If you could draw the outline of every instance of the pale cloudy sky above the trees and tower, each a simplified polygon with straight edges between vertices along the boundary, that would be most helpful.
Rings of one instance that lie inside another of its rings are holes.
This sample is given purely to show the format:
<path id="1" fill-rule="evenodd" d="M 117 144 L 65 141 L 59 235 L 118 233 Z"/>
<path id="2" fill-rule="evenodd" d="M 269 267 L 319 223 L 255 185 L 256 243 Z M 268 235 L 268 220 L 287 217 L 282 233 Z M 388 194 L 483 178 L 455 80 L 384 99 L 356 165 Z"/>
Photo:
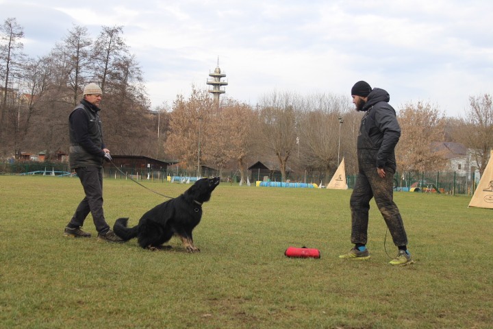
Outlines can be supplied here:
<path id="1" fill-rule="evenodd" d="M 396 110 L 422 101 L 447 117 L 493 93 L 492 12 L 491 0 L 0 0 L 31 57 L 75 25 L 93 38 L 123 26 L 153 108 L 208 88 L 219 64 L 226 95 L 253 106 L 273 91 L 350 101 L 365 80 Z"/>

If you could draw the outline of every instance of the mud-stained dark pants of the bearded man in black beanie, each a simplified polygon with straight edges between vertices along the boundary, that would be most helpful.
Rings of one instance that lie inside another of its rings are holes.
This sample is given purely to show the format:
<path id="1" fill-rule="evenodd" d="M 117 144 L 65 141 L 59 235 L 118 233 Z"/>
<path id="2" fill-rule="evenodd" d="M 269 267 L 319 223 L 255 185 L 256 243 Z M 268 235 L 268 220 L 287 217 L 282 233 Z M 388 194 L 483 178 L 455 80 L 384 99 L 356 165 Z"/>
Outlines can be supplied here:
<path id="1" fill-rule="evenodd" d="M 375 163 L 375 162 L 373 162 Z M 407 235 L 399 208 L 393 201 L 394 170 L 385 168 L 385 178 L 380 178 L 377 167 L 361 165 L 351 194 L 351 243 L 364 243 L 368 240 L 368 211 L 370 200 L 375 197 L 394 244 L 407 245 Z"/>

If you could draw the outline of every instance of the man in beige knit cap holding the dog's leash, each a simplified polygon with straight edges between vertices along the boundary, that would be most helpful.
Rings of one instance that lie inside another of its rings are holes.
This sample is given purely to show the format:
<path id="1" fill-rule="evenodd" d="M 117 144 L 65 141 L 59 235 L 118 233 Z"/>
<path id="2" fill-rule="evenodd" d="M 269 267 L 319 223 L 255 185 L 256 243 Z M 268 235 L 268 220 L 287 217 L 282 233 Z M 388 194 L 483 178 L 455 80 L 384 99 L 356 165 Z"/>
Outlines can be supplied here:
<path id="1" fill-rule="evenodd" d="M 64 230 L 64 236 L 90 237 L 81 230 L 89 212 L 98 232 L 98 239 L 109 242 L 123 242 L 105 221 L 103 214 L 103 160 L 111 161 L 110 150 L 103 143 L 103 127 L 98 112 L 102 96 L 101 88 L 91 83 L 84 88 L 83 97 L 68 117 L 70 136 L 70 166 L 75 170 L 86 197 L 82 199 L 71 221 Z"/>

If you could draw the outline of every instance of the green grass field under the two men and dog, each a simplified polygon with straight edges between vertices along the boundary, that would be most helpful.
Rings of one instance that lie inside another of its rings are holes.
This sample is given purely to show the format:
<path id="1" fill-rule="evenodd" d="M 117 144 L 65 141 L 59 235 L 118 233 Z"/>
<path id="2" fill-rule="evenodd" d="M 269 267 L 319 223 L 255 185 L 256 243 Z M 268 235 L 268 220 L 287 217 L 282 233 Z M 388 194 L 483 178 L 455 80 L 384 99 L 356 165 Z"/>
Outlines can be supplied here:
<path id="1" fill-rule="evenodd" d="M 134 225 L 164 199 L 105 180 L 105 217 Z M 165 195 L 189 185 L 144 182 Z M 68 239 L 76 178 L 0 176 L 0 328 L 492 328 L 493 212 L 470 197 L 396 193 L 416 263 L 392 267 L 370 210 L 372 258 L 344 261 L 351 191 L 222 183 L 194 230 L 201 252 Z M 287 258 L 287 247 L 321 258 Z M 385 244 L 394 256 L 389 236 Z"/>

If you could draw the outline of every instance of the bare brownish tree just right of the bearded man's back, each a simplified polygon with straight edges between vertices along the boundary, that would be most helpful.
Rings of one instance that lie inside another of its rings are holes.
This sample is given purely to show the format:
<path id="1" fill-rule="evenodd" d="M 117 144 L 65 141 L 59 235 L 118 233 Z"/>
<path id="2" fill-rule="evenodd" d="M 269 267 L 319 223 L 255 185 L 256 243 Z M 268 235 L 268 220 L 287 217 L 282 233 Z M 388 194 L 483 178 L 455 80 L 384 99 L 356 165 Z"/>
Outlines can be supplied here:
<path id="1" fill-rule="evenodd" d="M 433 150 L 433 142 L 444 141 L 444 115 L 430 103 L 407 103 L 399 109 L 401 138 L 396 160 L 412 171 L 438 171 L 444 168 L 444 153 Z"/>

